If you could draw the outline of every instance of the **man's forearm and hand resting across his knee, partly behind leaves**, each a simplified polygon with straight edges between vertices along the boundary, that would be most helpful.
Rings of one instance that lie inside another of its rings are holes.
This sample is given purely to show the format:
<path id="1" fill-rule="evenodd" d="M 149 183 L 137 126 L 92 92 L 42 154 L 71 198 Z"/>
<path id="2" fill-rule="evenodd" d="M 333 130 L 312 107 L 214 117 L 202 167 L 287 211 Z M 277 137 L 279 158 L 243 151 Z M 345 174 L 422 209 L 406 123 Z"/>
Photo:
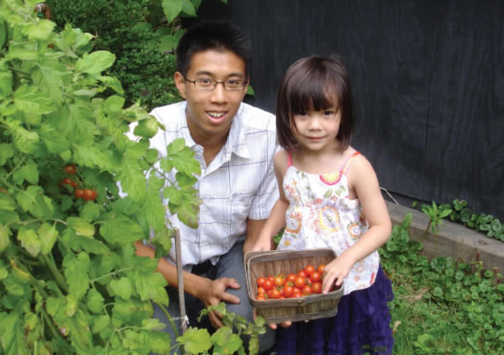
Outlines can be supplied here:
<path id="1" fill-rule="evenodd" d="M 141 241 L 135 242 L 135 247 L 137 248 L 136 254 L 138 256 L 154 258 L 154 249 L 146 246 Z M 156 271 L 164 276 L 170 286 L 178 287 L 177 268 L 173 264 L 164 258 L 160 258 Z M 240 285 L 234 278 L 223 277 L 217 280 L 210 280 L 187 271 L 182 271 L 182 277 L 184 291 L 200 299 L 205 307 L 216 306 L 221 301 L 235 304 L 240 303 L 237 297 L 226 292 L 228 287 L 240 288 Z M 224 325 L 215 312 L 211 312 L 209 318 L 212 325 L 217 329 Z"/>

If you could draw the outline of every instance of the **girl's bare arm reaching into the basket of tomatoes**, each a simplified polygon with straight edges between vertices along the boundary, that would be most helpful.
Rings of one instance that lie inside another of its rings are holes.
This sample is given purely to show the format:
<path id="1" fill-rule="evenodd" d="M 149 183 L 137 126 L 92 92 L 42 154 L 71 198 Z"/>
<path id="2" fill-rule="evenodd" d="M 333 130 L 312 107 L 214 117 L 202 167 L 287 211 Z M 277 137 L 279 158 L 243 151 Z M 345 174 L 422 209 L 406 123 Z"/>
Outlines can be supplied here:
<path id="1" fill-rule="evenodd" d="M 376 173 L 369 161 L 361 155 L 356 157 L 347 176 L 350 193 L 355 192 L 359 199 L 369 229 L 357 243 L 327 264 L 322 285 L 324 293 L 329 292 L 334 284 L 341 285 L 350 268 L 380 248 L 389 239 L 392 231 L 389 211 L 380 191 Z"/>

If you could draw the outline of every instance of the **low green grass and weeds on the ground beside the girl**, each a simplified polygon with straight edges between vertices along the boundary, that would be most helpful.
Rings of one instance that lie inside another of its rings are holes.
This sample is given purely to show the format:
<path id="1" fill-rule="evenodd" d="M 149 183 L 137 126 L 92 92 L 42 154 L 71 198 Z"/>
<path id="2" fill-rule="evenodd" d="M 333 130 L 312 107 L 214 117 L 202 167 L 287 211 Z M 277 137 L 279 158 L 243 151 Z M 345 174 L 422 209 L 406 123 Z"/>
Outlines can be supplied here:
<path id="1" fill-rule="evenodd" d="M 421 244 L 410 241 L 410 224 L 407 214 L 380 249 L 395 293 L 389 303 L 394 353 L 502 353 L 502 275 L 483 270 L 481 262 L 466 264 L 446 257 L 429 261 L 418 255 Z"/>

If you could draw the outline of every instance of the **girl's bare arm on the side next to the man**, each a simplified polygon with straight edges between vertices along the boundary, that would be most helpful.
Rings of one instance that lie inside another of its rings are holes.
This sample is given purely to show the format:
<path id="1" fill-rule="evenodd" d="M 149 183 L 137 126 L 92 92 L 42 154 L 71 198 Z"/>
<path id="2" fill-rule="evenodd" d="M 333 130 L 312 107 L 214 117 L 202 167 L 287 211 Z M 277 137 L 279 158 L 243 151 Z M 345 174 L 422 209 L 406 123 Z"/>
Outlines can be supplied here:
<path id="1" fill-rule="evenodd" d="M 278 233 L 278 231 L 285 226 L 285 212 L 289 207 L 289 201 L 287 201 L 287 199 L 285 198 L 285 194 L 282 188 L 283 177 L 285 175 L 285 171 L 287 170 L 286 151 L 282 149 L 278 153 L 276 153 L 273 163 L 275 167 L 275 175 L 277 177 L 280 197 L 278 198 L 277 202 L 275 202 L 268 220 L 261 229 L 261 233 L 259 234 L 257 241 L 250 246 L 244 246 L 244 254 L 248 252 L 271 250 L 271 240 Z"/>

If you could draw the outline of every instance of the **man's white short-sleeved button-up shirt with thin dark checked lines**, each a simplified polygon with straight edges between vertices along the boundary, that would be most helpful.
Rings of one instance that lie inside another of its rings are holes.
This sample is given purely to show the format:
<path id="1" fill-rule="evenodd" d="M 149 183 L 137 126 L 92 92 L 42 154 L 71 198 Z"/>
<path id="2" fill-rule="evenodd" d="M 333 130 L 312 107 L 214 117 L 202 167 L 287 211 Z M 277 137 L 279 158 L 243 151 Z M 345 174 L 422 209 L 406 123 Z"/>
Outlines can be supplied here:
<path id="1" fill-rule="evenodd" d="M 185 107 L 183 101 L 152 110 L 166 131 L 160 130 L 150 145 L 160 156 L 166 156 L 167 145 L 183 138 L 201 164 L 195 186 L 202 200 L 198 229 L 187 227 L 167 211 L 172 225 L 180 229 L 182 264 L 190 270 L 206 260 L 215 265 L 221 255 L 243 240 L 247 218 L 268 218 L 279 196 L 273 169 L 278 146 L 275 116 L 241 103 L 225 145 L 207 166 L 203 147 L 193 140 L 187 127 Z M 174 171 L 170 179 L 174 181 Z M 174 248 L 167 259 L 174 263 Z"/>

